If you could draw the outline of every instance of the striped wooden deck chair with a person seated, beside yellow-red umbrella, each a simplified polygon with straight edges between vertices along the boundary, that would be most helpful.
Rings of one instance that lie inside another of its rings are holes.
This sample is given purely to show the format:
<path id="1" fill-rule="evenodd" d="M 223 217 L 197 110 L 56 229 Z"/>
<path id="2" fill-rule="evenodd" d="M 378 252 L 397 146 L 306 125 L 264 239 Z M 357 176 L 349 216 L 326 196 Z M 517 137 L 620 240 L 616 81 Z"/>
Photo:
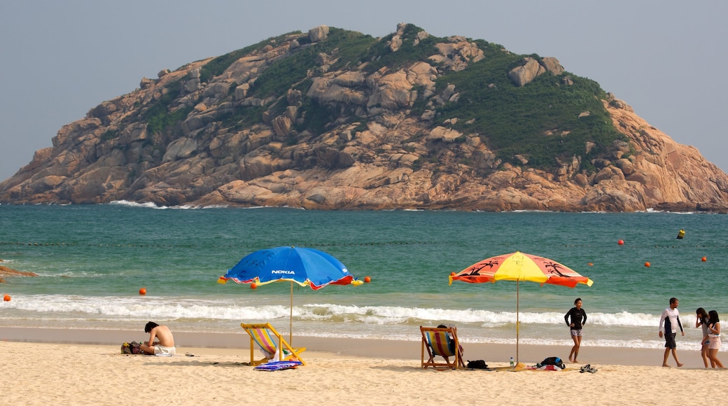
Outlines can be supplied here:
<path id="1" fill-rule="evenodd" d="M 457 327 L 422 327 L 422 368 L 433 367 L 436 370 L 456 370 L 464 368 L 462 362 L 462 347 L 457 338 Z M 429 358 L 424 360 L 424 351 L 427 350 Z M 443 357 L 443 361 L 435 361 L 435 357 Z M 450 357 L 454 357 L 450 362 Z"/>

